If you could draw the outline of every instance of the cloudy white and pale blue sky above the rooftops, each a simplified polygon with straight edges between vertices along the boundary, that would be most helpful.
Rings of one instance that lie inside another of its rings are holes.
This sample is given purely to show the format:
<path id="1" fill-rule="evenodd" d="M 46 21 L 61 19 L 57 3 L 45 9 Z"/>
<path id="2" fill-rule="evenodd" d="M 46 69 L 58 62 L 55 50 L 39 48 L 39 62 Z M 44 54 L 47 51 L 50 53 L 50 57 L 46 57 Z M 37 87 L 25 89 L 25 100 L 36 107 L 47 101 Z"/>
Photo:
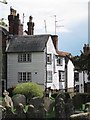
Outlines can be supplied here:
<path id="1" fill-rule="evenodd" d="M 8 4 L 0 3 L 0 18 L 5 18 L 7 22 L 12 7 L 20 14 L 21 22 L 24 13 L 24 30 L 27 30 L 29 16 L 32 16 L 35 23 L 34 34 L 54 35 L 56 31 L 59 50 L 79 55 L 84 44 L 88 43 L 89 0 L 7 0 L 7 2 Z"/>

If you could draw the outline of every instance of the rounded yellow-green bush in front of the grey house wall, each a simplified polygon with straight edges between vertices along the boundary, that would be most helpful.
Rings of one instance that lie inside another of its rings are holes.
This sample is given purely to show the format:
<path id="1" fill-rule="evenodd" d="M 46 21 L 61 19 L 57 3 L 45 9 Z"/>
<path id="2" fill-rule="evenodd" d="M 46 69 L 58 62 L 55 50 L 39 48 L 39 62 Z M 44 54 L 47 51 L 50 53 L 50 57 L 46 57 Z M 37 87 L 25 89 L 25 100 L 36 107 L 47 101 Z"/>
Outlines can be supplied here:
<path id="1" fill-rule="evenodd" d="M 32 97 L 42 97 L 43 89 L 40 85 L 33 82 L 21 83 L 13 90 L 13 94 L 23 94 L 27 99 L 30 99 Z"/>

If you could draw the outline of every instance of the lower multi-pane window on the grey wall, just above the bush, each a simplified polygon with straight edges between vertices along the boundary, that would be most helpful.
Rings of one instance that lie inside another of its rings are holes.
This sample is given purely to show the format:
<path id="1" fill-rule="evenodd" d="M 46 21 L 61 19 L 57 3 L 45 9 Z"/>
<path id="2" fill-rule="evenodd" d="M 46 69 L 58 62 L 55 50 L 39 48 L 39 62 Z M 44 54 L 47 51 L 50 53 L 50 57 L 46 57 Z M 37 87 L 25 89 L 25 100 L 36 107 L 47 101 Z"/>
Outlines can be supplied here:
<path id="1" fill-rule="evenodd" d="M 18 72 L 18 82 L 31 82 L 31 72 Z"/>

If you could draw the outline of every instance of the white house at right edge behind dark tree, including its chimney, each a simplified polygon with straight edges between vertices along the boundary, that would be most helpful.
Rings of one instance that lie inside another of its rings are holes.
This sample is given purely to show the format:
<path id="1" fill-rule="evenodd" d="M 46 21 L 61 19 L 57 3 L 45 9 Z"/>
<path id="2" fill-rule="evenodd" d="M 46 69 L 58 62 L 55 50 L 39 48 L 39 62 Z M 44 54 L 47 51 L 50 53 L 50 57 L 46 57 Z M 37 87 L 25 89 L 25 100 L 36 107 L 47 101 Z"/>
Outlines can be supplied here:
<path id="1" fill-rule="evenodd" d="M 88 55 L 90 53 L 89 44 L 84 44 L 83 53 Z M 88 71 L 81 71 L 80 68 L 75 66 L 74 81 L 77 92 L 90 92 L 90 80 L 88 79 Z"/>

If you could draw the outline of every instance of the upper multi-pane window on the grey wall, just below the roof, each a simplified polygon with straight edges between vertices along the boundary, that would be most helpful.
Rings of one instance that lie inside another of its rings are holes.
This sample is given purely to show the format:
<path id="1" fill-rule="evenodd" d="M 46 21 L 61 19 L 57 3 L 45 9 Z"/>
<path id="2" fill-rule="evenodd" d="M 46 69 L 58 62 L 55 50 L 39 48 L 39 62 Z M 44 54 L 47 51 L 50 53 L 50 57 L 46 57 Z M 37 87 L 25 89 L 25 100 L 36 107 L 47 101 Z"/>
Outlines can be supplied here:
<path id="1" fill-rule="evenodd" d="M 31 62 L 31 53 L 18 54 L 18 62 Z"/>

